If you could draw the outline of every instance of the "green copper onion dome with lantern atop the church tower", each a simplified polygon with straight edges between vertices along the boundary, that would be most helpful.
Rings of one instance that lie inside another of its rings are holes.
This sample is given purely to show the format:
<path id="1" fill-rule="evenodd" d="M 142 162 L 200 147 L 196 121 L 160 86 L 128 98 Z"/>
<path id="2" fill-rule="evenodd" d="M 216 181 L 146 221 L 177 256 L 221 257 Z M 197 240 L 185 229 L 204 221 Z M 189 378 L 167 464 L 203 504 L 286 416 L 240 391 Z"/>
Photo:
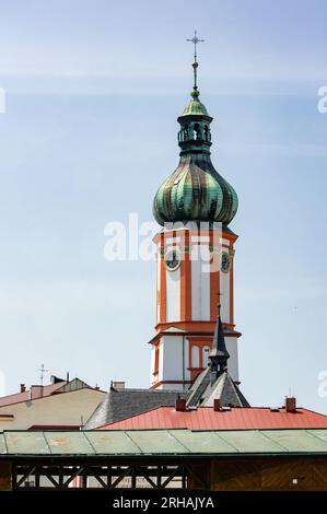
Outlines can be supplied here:
<path id="1" fill-rule="evenodd" d="M 199 101 L 196 59 L 192 68 L 195 84 L 191 100 L 177 119 L 180 125 L 180 160 L 154 197 L 153 215 L 161 225 L 189 221 L 227 225 L 237 211 L 237 195 L 211 162 L 210 124 L 213 118 Z"/>

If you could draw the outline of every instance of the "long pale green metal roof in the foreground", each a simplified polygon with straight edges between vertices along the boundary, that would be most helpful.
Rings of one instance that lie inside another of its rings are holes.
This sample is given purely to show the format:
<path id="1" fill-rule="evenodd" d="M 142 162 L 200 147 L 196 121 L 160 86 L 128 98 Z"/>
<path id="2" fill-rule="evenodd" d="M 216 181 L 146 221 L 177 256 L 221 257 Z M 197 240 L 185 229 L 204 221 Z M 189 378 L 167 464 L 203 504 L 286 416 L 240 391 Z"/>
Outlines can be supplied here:
<path id="1" fill-rule="evenodd" d="M 0 434 L 0 458 L 253 454 L 327 456 L 327 430 L 5 431 Z"/>

